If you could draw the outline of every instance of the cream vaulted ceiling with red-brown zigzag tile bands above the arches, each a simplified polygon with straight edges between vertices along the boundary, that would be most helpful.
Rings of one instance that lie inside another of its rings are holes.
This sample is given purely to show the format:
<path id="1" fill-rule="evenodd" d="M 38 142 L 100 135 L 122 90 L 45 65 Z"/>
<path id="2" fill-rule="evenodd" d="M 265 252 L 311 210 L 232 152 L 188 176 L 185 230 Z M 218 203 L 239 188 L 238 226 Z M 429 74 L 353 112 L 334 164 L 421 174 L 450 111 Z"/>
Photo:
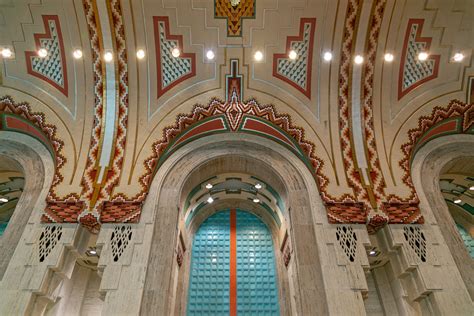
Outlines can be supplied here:
<path id="1" fill-rule="evenodd" d="M 236 3 L 0 0 L 0 112 L 17 116 L 0 127 L 26 128 L 56 159 L 44 220 L 137 220 L 185 120 L 234 115 L 235 92 L 255 102 L 232 111 L 311 147 L 332 221 L 422 221 L 411 155 L 474 133 L 472 1 Z"/>

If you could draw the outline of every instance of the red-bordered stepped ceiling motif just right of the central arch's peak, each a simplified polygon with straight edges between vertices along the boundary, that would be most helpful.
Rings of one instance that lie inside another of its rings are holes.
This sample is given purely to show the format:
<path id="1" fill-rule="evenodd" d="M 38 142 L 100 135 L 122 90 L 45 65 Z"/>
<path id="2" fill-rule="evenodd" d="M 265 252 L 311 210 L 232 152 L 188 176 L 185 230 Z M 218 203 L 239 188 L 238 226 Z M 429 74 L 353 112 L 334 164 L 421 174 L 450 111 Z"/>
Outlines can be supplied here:
<path id="1" fill-rule="evenodd" d="M 286 53 L 273 55 L 273 76 L 279 78 L 311 98 L 311 69 L 313 62 L 315 18 L 300 20 L 298 36 L 289 36 L 286 40 Z M 296 60 L 288 58 L 290 50 L 294 50 Z"/>

